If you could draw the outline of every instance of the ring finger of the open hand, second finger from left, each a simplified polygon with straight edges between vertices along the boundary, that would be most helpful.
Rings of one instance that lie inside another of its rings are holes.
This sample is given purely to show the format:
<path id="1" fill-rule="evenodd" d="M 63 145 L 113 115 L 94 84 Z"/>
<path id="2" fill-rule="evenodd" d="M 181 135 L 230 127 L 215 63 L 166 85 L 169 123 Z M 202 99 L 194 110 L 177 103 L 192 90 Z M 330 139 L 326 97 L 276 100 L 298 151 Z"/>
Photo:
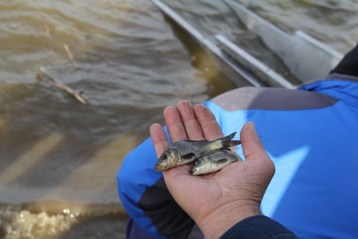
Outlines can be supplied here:
<path id="1" fill-rule="evenodd" d="M 179 112 L 174 107 L 164 109 L 164 119 L 167 124 L 168 132 L 172 143 L 181 139 L 186 139 L 184 125 L 182 124 Z"/>

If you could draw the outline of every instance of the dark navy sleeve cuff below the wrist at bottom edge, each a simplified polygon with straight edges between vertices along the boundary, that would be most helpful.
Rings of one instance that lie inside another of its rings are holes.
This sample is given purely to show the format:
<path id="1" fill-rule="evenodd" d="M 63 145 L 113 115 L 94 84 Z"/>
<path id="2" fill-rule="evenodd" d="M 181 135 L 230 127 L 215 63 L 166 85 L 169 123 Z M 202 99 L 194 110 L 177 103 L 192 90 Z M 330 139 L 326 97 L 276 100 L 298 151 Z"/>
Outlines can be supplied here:
<path id="1" fill-rule="evenodd" d="M 276 221 L 260 215 L 240 221 L 220 239 L 298 239 L 298 237 Z"/>

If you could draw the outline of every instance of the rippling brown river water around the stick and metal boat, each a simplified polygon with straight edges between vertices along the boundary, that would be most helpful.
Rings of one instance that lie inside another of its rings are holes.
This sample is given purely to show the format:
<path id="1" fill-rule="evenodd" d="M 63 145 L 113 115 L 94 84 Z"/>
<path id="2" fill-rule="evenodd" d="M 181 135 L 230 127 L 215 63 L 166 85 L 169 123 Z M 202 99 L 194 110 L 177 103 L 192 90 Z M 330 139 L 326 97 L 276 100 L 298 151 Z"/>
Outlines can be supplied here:
<path id="1" fill-rule="evenodd" d="M 239 1 L 342 53 L 358 39 L 357 0 Z M 223 2 L 166 2 L 289 77 Z M 0 22 L 0 238 L 123 239 L 123 157 L 163 124 L 166 106 L 237 86 L 149 0 L 0 0 Z M 38 80 L 39 67 L 88 104 Z"/>

